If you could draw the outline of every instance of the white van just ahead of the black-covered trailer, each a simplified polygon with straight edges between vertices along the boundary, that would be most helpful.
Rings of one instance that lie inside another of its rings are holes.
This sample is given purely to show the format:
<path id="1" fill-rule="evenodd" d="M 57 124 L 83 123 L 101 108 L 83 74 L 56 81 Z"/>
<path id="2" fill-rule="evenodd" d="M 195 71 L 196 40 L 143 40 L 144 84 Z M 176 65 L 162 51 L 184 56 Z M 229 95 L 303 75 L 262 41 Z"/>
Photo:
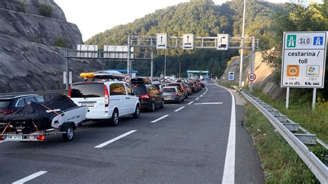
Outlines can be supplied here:
<path id="1" fill-rule="evenodd" d="M 140 116 L 139 100 L 129 84 L 123 81 L 74 83 L 69 97 L 78 106 L 89 107 L 88 120 L 109 120 L 116 126 L 121 116 Z"/>

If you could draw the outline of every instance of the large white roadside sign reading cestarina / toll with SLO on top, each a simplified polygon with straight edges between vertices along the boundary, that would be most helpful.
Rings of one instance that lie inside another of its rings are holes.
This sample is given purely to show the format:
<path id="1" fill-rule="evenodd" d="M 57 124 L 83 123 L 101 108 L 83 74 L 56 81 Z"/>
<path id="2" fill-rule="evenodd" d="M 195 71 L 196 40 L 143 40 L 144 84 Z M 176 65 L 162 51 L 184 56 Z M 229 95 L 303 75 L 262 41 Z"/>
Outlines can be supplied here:
<path id="1" fill-rule="evenodd" d="M 282 87 L 323 88 L 327 32 L 285 32 Z"/>

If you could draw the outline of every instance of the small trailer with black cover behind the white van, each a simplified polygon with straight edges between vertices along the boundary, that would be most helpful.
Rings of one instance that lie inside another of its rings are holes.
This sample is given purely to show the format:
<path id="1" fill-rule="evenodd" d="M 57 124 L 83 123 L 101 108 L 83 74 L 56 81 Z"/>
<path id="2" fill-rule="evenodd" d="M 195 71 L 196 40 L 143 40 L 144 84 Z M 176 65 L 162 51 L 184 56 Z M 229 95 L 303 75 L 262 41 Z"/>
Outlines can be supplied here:
<path id="1" fill-rule="evenodd" d="M 88 111 L 88 107 L 78 107 L 64 95 L 55 95 L 42 103 L 29 102 L 6 116 L 8 123 L 0 134 L 0 143 L 44 141 L 46 136 L 53 134 L 62 134 L 65 141 L 71 141 L 76 127 L 86 120 Z"/>

